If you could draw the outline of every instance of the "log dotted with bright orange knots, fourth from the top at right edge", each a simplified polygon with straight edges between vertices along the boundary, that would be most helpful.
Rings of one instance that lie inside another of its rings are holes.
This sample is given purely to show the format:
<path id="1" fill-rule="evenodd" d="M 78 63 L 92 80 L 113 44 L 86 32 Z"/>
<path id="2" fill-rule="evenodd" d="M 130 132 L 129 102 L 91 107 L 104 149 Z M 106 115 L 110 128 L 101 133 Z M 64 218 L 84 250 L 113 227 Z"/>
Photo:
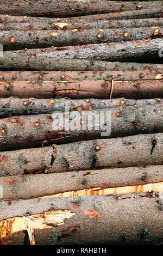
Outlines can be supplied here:
<path id="1" fill-rule="evenodd" d="M 162 28 L 89 29 L 71 31 L 3 31 L 0 43 L 4 50 L 42 48 L 51 46 L 101 44 L 163 37 Z"/>

